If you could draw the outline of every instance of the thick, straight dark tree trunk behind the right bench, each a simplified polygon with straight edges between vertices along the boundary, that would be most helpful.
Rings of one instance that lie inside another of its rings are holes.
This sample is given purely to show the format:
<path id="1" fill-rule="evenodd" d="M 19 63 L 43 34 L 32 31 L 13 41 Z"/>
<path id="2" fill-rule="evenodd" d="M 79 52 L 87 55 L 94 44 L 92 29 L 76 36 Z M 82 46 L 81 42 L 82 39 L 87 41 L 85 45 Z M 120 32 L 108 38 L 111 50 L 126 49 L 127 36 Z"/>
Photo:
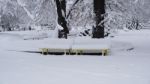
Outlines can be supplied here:
<path id="1" fill-rule="evenodd" d="M 105 0 L 94 0 L 96 27 L 93 28 L 93 38 L 104 38 Z"/>

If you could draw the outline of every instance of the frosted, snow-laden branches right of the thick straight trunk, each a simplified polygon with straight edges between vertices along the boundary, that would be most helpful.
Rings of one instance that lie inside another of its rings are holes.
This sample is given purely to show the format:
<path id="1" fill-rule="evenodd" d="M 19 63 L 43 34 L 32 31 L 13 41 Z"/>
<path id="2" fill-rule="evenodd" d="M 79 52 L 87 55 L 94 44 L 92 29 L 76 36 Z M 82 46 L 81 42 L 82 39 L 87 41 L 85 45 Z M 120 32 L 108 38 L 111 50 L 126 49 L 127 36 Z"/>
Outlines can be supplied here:
<path id="1" fill-rule="evenodd" d="M 105 31 L 140 29 L 147 17 L 145 2 L 148 0 L 106 0 Z M 147 17 L 148 18 L 148 17 Z"/>

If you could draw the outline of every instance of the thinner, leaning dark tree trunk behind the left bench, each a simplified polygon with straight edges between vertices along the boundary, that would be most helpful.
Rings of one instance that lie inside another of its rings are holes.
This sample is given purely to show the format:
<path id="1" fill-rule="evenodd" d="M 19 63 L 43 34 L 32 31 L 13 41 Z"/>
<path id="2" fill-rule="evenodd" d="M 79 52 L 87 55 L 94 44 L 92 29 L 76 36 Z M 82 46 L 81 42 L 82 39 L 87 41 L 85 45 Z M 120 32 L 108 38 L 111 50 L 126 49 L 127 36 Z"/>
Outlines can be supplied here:
<path id="1" fill-rule="evenodd" d="M 62 30 L 63 36 L 67 38 L 67 34 L 69 33 L 69 29 L 66 21 L 66 0 L 55 0 L 57 6 L 57 14 L 58 14 L 58 24 L 61 25 L 64 29 Z M 63 15 L 65 14 L 65 15 Z"/>

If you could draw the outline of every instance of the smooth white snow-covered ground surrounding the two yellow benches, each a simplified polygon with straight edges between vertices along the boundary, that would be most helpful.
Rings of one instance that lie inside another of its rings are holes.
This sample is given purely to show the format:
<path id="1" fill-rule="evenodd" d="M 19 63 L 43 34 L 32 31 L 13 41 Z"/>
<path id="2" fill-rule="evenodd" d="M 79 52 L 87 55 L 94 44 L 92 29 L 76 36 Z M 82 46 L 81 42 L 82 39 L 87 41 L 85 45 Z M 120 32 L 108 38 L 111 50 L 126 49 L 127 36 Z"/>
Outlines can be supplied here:
<path id="1" fill-rule="evenodd" d="M 63 39 L 48 38 L 50 35 L 45 33 L 0 33 L 0 84 L 150 84 L 149 32 L 120 31 L 114 38 L 106 38 L 111 48 L 109 56 L 43 56 L 20 52 L 45 46 L 65 47 L 74 39 L 66 43 Z M 38 35 L 43 39 L 24 40 Z M 63 45 L 58 45 L 59 42 Z"/>

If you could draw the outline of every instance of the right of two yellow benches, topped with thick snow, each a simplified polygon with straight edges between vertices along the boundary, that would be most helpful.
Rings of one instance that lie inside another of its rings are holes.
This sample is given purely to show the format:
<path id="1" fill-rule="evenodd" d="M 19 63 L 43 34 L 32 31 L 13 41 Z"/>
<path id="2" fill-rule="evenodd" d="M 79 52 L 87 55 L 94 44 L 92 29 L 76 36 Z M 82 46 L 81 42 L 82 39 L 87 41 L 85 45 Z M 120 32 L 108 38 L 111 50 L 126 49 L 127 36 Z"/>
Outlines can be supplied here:
<path id="1" fill-rule="evenodd" d="M 80 39 L 75 40 L 71 52 L 76 54 L 102 54 L 108 55 L 110 45 L 105 39 Z"/>

